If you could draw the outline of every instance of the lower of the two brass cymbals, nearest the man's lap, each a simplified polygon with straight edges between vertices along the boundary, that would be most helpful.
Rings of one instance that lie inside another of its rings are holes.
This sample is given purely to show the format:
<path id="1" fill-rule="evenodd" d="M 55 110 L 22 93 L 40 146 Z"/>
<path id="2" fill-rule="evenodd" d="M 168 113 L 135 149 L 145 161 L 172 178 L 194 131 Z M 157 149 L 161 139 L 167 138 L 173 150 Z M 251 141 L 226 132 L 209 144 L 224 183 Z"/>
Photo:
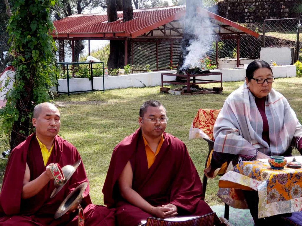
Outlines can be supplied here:
<path id="1" fill-rule="evenodd" d="M 83 199 L 82 195 L 87 185 L 87 182 L 80 184 L 64 199 L 54 215 L 55 219 L 63 216 L 68 211 L 75 210 L 80 205 Z"/>

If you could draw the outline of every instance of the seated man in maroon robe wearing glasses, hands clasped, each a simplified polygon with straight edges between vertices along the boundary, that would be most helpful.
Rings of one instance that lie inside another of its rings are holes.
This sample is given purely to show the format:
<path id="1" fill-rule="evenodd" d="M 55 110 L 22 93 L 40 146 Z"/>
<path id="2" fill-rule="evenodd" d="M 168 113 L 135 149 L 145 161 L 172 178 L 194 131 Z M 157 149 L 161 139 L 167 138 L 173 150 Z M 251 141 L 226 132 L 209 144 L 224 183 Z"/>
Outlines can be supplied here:
<path id="1" fill-rule="evenodd" d="M 119 226 L 149 216 L 201 216 L 213 212 L 202 200 L 202 184 L 185 144 L 165 133 L 164 106 L 140 107 L 140 128 L 114 149 L 104 183 L 104 203 L 116 208 Z M 215 225 L 224 225 L 215 216 Z"/>

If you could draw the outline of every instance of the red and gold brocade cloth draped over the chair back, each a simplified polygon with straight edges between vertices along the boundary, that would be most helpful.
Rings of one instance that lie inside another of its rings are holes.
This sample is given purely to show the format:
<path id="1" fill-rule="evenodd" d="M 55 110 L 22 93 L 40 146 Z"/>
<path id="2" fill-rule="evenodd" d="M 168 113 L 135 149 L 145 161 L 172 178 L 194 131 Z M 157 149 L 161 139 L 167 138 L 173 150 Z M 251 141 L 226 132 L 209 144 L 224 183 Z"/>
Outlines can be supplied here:
<path id="1" fill-rule="evenodd" d="M 189 131 L 189 139 L 208 138 L 213 140 L 213 127 L 220 110 L 199 109 Z"/>

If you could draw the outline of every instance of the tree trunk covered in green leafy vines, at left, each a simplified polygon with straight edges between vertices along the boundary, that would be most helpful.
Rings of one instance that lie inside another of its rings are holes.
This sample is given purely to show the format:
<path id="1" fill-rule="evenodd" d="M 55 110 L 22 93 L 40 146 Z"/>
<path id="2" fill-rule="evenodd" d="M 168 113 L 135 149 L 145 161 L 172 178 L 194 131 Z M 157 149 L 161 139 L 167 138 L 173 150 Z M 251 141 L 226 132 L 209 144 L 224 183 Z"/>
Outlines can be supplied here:
<path id="1" fill-rule="evenodd" d="M 50 8 L 56 0 L 15 0 L 7 31 L 10 54 L 15 68 L 12 89 L 7 90 L 7 103 L 0 110 L 2 137 L 13 149 L 33 132 L 31 124 L 36 104 L 50 101 L 51 87 L 56 84 L 55 45 Z M 2 90 L 7 89 L 5 86 Z"/>

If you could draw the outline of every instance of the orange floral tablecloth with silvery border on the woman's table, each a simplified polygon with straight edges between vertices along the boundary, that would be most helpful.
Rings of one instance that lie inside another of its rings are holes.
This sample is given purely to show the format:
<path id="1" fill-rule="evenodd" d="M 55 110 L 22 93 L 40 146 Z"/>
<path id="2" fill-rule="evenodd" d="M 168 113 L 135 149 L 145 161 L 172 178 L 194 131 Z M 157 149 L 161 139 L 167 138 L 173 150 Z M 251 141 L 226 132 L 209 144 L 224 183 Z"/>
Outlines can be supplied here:
<path id="1" fill-rule="evenodd" d="M 271 169 L 267 162 L 246 161 L 219 180 L 218 197 L 233 208 L 247 209 L 242 189 L 257 190 L 258 217 L 302 210 L 302 169 Z"/>

